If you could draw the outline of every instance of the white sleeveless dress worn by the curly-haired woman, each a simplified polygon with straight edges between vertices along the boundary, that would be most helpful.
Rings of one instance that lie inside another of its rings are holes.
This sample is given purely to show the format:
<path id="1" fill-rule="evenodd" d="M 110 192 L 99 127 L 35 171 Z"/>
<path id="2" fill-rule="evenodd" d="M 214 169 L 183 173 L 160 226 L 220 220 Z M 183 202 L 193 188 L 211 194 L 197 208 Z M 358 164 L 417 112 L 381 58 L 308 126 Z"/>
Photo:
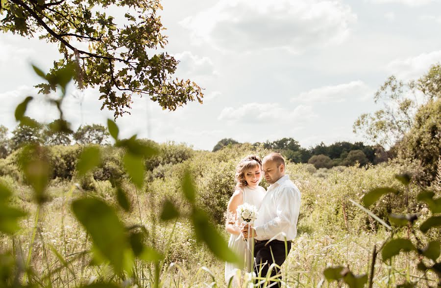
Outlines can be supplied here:
<path id="1" fill-rule="evenodd" d="M 250 188 L 245 186 L 241 188 L 241 192 L 244 196 L 244 203 L 254 205 L 257 210 L 259 210 L 260 205 L 262 204 L 262 199 L 265 196 L 266 190 L 262 186 L 257 186 L 256 188 Z M 228 241 L 228 247 L 235 252 L 239 259 L 244 260 L 245 267 L 239 267 L 234 263 L 225 262 L 225 282 L 228 284 L 231 277 L 234 277 L 237 274 L 238 269 L 244 270 L 244 272 L 252 272 L 253 269 L 251 267 L 251 243 L 247 246 L 247 242 L 243 241 L 243 239 L 236 240 L 238 235 L 230 235 L 230 239 Z M 233 286 L 236 281 L 233 281 Z"/>

